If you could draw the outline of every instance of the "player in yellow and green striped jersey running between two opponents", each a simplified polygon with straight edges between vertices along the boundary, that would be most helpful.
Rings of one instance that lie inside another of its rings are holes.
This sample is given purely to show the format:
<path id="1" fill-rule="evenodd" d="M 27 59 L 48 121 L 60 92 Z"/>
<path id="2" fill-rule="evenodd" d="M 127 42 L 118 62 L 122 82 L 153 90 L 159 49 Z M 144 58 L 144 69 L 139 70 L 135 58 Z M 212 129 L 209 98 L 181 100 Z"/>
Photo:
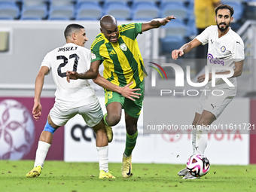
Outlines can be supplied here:
<path id="1" fill-rule="evenodd" d="M 106 131 L 120 121 L 122 108 L 124 109 L 126 146 L 123 153 L 123 178 L 133 175 L 132 151 L 136 145 L 137 121 L 144 97 L 144 65 L 136 37 L 149 29 L 164 26 L 172 19 L 175 17 L 117 26 L 114 17 L 105 15 L 100 20 L 101 33 L 91 45 L 92 59 L 89 71 L 84 74 L 67 72 L 67 78 L 93 78 L 96 84 L 104 88 L 107 108 L 107 114 L 104 115 Z M 99 65 L 102 62 L 104 78 L 99 75 Z"/>

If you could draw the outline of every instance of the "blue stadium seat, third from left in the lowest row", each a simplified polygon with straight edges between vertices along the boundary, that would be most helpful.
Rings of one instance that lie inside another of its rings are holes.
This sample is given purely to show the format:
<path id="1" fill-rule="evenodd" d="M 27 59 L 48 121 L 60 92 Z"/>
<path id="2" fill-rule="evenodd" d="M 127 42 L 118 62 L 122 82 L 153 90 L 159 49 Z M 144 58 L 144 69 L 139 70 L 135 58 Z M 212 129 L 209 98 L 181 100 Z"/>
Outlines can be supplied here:
<path id="1" fill-rule="evenodd" d="M 48 20 L 72 20 L 75 17 L 75 8 L 72 6 L 50 6 Z"/>

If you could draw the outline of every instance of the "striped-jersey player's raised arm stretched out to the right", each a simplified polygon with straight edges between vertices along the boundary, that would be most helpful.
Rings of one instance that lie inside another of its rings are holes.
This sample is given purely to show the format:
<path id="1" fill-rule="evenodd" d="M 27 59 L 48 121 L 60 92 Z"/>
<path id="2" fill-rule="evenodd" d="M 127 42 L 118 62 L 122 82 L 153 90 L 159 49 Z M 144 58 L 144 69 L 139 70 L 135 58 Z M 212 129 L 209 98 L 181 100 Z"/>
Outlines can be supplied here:
<path id="1" fill-rule="evenodd" d="M 167 23 L 170 22 L 170 20 L 173 19 L 175 19 L 175 17 L 173 17 L 172 15 L 165 18 L 154 19 L 147 23 L 142 23 L 142 32 L 148 31 L 149 29 L 158 28 L 160 26 L 165 26 Z"/>

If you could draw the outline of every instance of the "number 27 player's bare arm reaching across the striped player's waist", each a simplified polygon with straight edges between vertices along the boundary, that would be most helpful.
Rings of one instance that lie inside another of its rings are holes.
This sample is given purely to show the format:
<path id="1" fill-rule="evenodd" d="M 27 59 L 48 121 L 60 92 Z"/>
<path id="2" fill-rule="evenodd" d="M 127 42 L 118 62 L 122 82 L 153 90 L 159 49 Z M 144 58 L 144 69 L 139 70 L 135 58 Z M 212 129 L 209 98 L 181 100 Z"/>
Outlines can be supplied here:
<path id="1" fill-rule="evenodd" d="M 130 89 L 130 86 L 133 84 L 133 82 L 131 82 L 130 84 L 127 84 L 124 87 L 119 87 L 115 84 L 112 84 L 111 82 L 109 82 L 108 80 L 103 78 L 102 75 L 99 75 L 99 74 L 98 74 L 97 78 L 93 79 L 93 82 L 107 90 L 111 90 L 113 92 L 120 93 L 122 96 L 124 96 L 128 99 L 131 99 L 133 101 L 135 101 L 135 99 L 133 99 L 133 98 L 139 99 L 139 96 L 142 95 L 140 93 L 135 93 L 135 91 L 141 90 L 141 89 L 139 89 L 139 88 Z"/>

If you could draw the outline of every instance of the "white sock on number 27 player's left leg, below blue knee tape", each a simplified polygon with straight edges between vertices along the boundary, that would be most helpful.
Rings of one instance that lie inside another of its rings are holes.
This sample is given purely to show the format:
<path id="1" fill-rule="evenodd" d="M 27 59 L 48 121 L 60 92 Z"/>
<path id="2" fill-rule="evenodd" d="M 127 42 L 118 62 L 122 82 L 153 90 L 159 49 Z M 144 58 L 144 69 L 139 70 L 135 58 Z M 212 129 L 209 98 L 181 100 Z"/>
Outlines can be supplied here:
<path id="1" fill-rule="evenodd" d="M 47 152 L 50 148 L 50 144 L 47 142 L 38 142 L 38 149 L 35 154 L 35 166 L 41 166 L 41 169 L 44 167 L 44 160 L 46 158 Z"/>

